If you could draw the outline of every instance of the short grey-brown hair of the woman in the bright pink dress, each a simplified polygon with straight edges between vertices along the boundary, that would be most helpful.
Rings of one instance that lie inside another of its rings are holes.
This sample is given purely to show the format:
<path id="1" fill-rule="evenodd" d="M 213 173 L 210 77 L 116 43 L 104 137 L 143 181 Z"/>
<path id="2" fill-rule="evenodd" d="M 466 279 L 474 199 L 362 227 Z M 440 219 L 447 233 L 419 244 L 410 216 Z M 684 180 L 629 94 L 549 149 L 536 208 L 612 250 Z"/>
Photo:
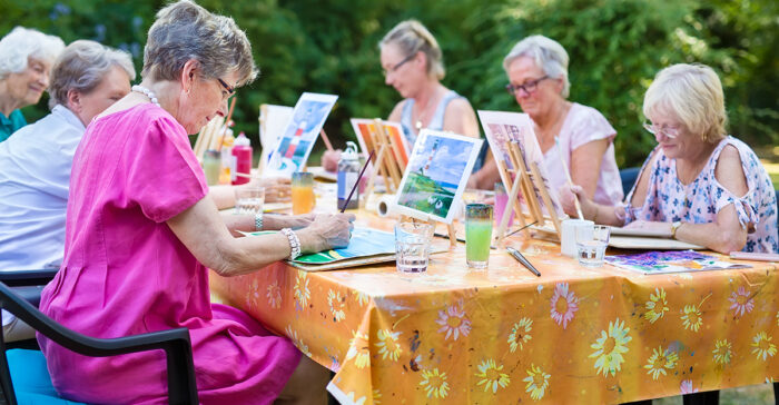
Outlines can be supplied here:
<path id="1" fill-rule="evenodd" d="M 259 72 L 246 33 L 231 18 L 180 0 L 157 12 L 144 49 L 141 76 L 178 80 L 190 59 L 209 79 L 237 72 L 238 86 L 252 82 Z"/>

